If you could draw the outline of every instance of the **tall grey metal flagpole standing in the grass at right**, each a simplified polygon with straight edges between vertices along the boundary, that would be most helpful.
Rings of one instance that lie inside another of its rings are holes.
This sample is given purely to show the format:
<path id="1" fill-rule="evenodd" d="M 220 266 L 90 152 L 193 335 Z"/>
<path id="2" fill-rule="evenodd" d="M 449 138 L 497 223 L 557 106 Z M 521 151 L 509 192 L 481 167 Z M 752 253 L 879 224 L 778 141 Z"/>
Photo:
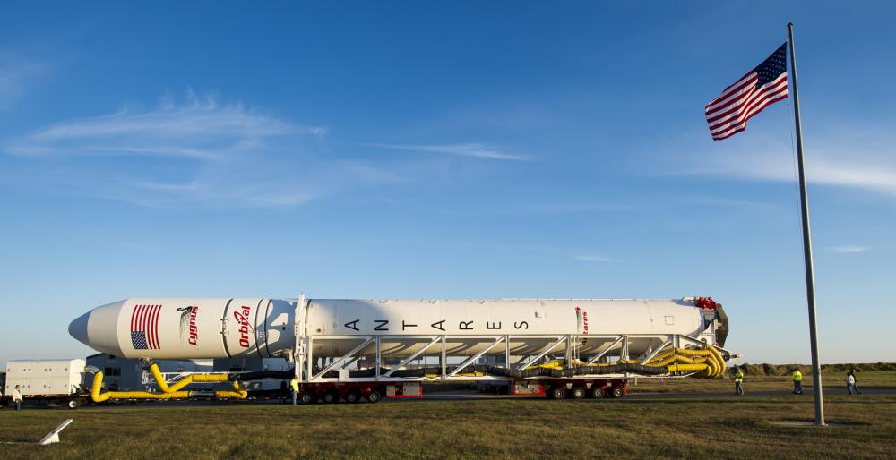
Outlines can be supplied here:
<path id="1" fill-rule="evenodd" d="M 812 236 L 809 234 L 809 200 L 806 197 L 806 165 L 803 160 L 803 132 L 799 124 L 797 57 L 793 53 L 793 22 L 787 25 L 790 45 L 790 72 L 793 79 L 793 115 L 797 122 L 797 162 L 799 165 L 799 207 L 803 213 L 803 259 L 806 261 L 806 302 L 809 304 L 809 341 L 812 347 L 812 378 L 815 398 L 815 424 L 824 424 L 822 367 L 818 362 L 818 328 L 815 327 L 815 277 L 812 264 Z"/>

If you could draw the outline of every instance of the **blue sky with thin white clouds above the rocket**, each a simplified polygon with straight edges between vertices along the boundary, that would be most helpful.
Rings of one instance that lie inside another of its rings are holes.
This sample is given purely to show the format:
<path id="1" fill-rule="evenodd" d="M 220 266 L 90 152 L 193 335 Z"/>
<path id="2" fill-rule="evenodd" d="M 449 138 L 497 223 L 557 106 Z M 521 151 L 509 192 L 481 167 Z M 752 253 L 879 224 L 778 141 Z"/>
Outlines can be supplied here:
<path id="1" fill-rule="evenodd" d="M 773 12 L 773 13 L 771 13 Z M 132 296 L 711 295 L 808 362 L 789 101 L 702 107 L 796 24 L 823 362 L 896 361 L 893 7 L 4 4 L 0 362 Z"/>

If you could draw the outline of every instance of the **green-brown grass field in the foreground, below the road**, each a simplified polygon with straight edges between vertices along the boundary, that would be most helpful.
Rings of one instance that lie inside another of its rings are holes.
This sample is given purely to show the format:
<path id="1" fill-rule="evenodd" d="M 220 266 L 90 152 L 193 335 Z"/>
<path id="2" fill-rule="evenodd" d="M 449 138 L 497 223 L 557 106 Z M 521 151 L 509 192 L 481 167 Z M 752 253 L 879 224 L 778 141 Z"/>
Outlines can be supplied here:
<path id="1" fill-rule="evenodd" d="M 641 396 L 619 400 L 401 401 L 0 411 L 0 458 L 892 458 L 896 396 Z"/>

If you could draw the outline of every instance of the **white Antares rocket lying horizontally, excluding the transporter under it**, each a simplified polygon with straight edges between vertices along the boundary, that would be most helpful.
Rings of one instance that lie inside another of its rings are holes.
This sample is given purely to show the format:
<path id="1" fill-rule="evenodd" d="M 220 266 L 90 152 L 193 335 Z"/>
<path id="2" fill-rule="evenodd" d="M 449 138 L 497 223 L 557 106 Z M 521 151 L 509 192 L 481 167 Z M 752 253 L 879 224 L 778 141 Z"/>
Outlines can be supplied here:
<path id="1" fill-rule="evenodd" d="M 296 345 L 295 300 L 134 298 L 109 303 L 75 319 L 69 331 L 103 353 L 127 358 L 199 359 L 283 356 Z M 463 336 L 545 336 L 512 339 L 514 355 L 536 354 L 547 336 L 684 334 L 707 327 L 694 302 L 668 300 L 328 300 L 307 302 L 301 335 L 452 336 L 448 354 L 476 354 L 487 346 Z M 315 357 L 348 353 L 358 339 L 315 340 Z M 421 344 L 385 339 L 383 356 L 401 358 Z M 607 340 L 583 338 L 582 354 Z M 649 345 L 645 345 L 649 346 Z M 361 354 L 370 354 L 374 345 Z M 559 351 L 559 350 L 556 350 Z M 556 352 L 555 351 L 555 352 Z M 632 350 L 638 353 L 639 350 Z M 490 354 L 504 354 L 504 346 Z"/>

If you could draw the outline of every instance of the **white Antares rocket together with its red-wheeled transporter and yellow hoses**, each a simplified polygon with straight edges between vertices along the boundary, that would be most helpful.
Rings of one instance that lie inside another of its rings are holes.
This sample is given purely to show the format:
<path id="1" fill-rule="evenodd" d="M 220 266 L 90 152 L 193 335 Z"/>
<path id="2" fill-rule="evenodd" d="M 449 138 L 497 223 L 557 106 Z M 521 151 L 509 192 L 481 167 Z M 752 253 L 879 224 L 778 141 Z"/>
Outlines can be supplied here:
<path id="1" fill-rule="evenodd" d="M 421 382 L 464 379 L 509 381 L 513 394 L 556 399 L 622 396 L 631 377 L 719 377 L 732 357 L 723 348 L 728 317 L 719 303 L 703 297 L 134 298 L 85 313 L 69 333 L 102 353 L 148 363 L 282 357 L 295 363 L 289 375 L 187 377 L 229 381 L 235 391 L 223 393 L 239 397 L 245 394 L 239 393 L 240 380 L 295 376 L 303 402 L 420 396 Z M 172 390 L 159 381 L 159 394 L 93 393 L 94 399 L 195 396 L 181 391 L 188 383 Z"/>

